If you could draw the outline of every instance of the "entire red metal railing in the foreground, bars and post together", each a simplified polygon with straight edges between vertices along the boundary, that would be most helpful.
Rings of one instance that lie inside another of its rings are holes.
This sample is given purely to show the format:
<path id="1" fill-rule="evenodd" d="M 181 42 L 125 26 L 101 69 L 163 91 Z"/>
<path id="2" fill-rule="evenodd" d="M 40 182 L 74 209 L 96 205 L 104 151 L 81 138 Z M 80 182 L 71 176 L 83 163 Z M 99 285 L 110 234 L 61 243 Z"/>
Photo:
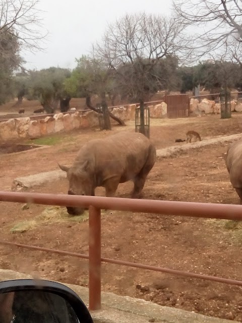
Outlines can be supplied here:
<path id="1" fill-rule="evenodd" d="M 23 245 L 13 242 L 0 241 L 2 245 L 16 246 L 31 250 L 41 250 L 62 255 L 70 255 L 89 259 L 89 309 L 101 308 L 101 261 L 119 265 L 144 268 L 156 272 L 170 273 L 183 277 L 199 278 L 230 285 L 242 286 L 242 281 L 195 273 L 177 271 L 170 268 L 144 265 L 122 260 L 101 257 L 101 209 L 123 210 L 132 212 L 158 213 L 173 216 L 187 216 L 197 218 L 215 218 L 226 220 L 242 220 L 242 205 L 213 204 L 197 202 L 176 202 L 159 200 L 136 200 L 129 198 L 74 196 L 42 193 L 1 192 L 0 201 L 35 203 L 59 206 L 89 207 L 89 256 L 63 250 L 47 249 L 36 246 Z"/>

